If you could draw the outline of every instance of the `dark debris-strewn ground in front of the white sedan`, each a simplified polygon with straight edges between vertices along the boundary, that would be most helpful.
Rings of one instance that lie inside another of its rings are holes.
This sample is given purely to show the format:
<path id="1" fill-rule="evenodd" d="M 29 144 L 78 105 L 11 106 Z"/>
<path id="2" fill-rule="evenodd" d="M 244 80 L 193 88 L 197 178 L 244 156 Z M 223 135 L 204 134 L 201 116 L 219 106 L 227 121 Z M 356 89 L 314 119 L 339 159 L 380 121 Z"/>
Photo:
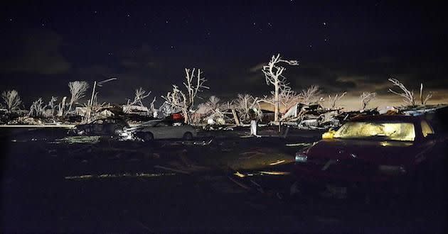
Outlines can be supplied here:
<path id="1" fill-rule="evenodd" d="M 211 142 L 149 144 L 55 140 L 64 138 L 65 130 L 54 129 L 3 131 L 1 231 L 444 233 L 447 228 L 447 204 L 440 197 L 425 196 L 417 204 L 289 198 L 292 177 L 260 172 L 289 172 L 303 145 L 285 144 L 311 143 L 321 133 L 238 137 L 244 133 L 216 134 Z M 236 171 L 254 175 L 240 178 Z"/>

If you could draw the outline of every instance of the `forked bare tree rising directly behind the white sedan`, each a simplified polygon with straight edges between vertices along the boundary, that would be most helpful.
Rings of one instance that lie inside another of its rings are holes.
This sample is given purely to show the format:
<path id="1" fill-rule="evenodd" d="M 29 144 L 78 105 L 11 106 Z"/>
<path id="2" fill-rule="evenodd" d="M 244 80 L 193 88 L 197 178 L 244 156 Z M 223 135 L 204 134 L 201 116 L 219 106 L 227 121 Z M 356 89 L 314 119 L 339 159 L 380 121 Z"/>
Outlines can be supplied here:
<path id="1" fill-rule="evenodd" d="M 201 77 L 201 69 L 198 69 L 196 76 L 194 68 L 191 72 L 190 69 L 186 68 L 185 73 L 186 76 L 183 86 L 186 90 L 182 91 L 178 86 L 173 84 L 173 90 L 168 92 L 166 96 L 161 97 L 162 99 L 165 99 L 166 103 L 169 105 L 181 109 L 185 123 L 189 123 L 191 107 L 194 105 L 194 100 L 196 99 L 198 92 L 203 91 L 203 89 L 208 89 L 208 87 L 204 85 L 207 80 L 204 77 Z"/>

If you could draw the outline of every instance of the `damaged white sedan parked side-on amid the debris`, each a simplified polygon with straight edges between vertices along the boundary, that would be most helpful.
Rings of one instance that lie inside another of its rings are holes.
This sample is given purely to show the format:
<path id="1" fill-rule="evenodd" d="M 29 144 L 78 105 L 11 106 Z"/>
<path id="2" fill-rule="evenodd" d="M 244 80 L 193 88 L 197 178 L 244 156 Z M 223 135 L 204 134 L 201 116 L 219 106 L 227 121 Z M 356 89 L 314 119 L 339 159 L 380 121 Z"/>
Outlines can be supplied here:
<path id="1" fill-rule="evenodd" d="M 154 139 L 196 138 L 198 130 L 185 123 L 167 120 L 154 120 L 141 123 L 131 128 L 124 128 L 121 136 L 125 139 L 140 138 L 144 141 Z"/>

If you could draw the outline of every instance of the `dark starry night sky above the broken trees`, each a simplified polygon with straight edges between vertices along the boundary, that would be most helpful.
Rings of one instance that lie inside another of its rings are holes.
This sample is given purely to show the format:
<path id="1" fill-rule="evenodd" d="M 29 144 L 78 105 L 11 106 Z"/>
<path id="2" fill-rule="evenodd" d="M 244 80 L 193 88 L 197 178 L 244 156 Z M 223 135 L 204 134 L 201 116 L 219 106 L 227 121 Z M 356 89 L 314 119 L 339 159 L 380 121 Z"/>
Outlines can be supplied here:
<path id="1" fill-rule="evenodd" d="M 262 96 L 272 87 L 261 66 L 279 52 L 300 62 L 284 72 L 293 89 L 348 91 L 347 107 L 362 91 L 398 103 L 388 77 L 416 92 L 423 82 L 433 103 L 447 102 L 442 10 L 427 1 L 19 1 L 0 10 L 0 88 L 18 90 L 28 108 L 69 96 L 69 81 L 118 77 L 99 99 L 125 103 L 138 87 L 166 94 L 184 68 L 199 67 L 204 97 Z"/>

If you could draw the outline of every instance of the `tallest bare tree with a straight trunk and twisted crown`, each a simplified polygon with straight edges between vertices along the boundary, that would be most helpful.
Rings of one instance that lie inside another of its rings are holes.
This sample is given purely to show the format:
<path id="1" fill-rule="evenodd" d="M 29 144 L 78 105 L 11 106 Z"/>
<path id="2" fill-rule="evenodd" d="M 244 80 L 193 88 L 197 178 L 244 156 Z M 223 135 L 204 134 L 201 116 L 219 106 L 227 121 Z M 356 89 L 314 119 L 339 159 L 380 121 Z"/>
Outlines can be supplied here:
<path id="1" fill-rule="evenodd" d="M 283 84 L 287 84 L 286 77 L 282 75 L 284 67 L 280 64 L 286 63 L 288 65 L 299 65 L 297 60 L 282 60 L 280 54 L 272 55 L 270 62 L 263 66 L 262 72 L 265 74 L 266 84 L 274 85 L 274 121 L 279 119 L 279 90 Z"/>

